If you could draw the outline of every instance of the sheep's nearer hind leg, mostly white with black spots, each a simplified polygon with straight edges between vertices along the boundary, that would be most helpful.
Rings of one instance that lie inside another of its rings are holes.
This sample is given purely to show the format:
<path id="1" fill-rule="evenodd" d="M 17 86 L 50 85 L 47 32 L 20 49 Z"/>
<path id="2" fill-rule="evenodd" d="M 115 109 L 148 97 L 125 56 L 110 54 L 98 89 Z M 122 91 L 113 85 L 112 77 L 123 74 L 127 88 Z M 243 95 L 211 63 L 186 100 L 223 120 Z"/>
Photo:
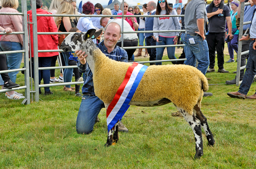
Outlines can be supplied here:
<path id="1" fill-rule="evenodd" d="M 185 111 L 182 108 L 177 107 L 177 109 L 180 111 L 182 116 L 185 118 L 185 120 L 188 122 L 188 124 L 193 130 L 195 141 L 196 141 L 195 158 L 200 158 L 204 154 L 201 124 L 197 120 L 196 116 L 189 114 L 187 111 Z"/>

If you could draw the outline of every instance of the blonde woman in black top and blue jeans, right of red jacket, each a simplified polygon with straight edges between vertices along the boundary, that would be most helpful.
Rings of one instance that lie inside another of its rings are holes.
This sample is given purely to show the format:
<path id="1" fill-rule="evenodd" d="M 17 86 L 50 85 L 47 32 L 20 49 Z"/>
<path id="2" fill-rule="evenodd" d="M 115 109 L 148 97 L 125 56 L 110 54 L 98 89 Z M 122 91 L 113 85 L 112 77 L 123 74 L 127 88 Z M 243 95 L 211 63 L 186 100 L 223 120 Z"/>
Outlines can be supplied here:
<path id="1" fill-rule="evenodd" d="M 68 1 L 63 1 L 62 3 L 60 3 L 60 6 L 56 14 L 68 14 L 68 15 L 74 14 L 73 5 Z M 72 17 L 55 17 L 54 20 L 55 20 L 55 24 L 58 27 L 58 31 L 61 31 L 61 32 L 69 32 L 71 28 L 76 27 Z M 65 60 L 65 65 L 70 66 L 68 64 L 69 52 L 62 52 L 62 54 Z M 73 75 L 73 68 L 66 68 L 64 70 L 64 75 L 63 75 L 64 82 L 71 82 L 72 75 Z M 66 85 L 64 87 L 64 90 L 74 91 L 72 88 L 70 88 L 70 85 Z"/>

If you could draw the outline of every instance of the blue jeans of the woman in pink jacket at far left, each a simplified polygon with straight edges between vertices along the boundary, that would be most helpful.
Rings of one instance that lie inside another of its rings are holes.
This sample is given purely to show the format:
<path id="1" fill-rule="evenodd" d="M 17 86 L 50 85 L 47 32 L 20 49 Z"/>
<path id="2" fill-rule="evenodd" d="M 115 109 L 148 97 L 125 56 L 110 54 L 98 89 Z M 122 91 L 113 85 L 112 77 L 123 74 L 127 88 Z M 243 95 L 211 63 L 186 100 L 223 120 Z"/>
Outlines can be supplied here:
<path id="1" fill-rule="evenodd" d="M 17 51 L 22 50 L 22 45 L 19 42 L 1 41 L 1 48 L 3 51 Z M 8 70 L 19 69 L 22 60 L 22 53 L 6 54 Z M 16 75 L 19 72 L 8 73 L 12 82 L 16 82 Z"/>

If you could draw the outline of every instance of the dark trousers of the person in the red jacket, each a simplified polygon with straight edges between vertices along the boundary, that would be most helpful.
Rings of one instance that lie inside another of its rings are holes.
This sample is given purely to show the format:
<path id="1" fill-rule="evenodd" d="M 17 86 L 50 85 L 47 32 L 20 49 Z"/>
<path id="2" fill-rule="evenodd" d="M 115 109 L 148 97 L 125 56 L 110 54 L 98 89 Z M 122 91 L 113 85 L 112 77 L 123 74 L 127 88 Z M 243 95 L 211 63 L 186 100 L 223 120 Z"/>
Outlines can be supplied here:
<path id="1" fill-rule="evenodd" d="M 31 58 L 34 63 L 34 58 Z M 38 67 L 50 67 L 51 66 L 52 57 L 38 57 Z M 33 66 L 33 65 L 32 65 Z M 34 67 L 34 66 L 33 66 Z M 34 74 L 33 74 L 34 77 Z M 50 70 L 39 70 L 38 73 L 39 84 L 41 84 L 42 79 L 44 80 L 44 84 L 50 84 Z M 39 88 L 41 91 L 41 88 Z M 49 87 L 45 87 L 44 91 L 50 91 Z"/>

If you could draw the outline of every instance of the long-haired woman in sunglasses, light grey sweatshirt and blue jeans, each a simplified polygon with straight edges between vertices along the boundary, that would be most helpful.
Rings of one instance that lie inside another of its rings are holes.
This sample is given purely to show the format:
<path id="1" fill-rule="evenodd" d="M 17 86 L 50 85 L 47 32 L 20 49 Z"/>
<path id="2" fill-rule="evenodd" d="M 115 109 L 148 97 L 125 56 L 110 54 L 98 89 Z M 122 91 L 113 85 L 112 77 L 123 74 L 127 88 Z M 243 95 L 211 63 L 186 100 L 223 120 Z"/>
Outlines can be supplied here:
<path id="1" fill-rule="evenodd" d="M 153 31 L 164 30 L 181 30 L 178 17 L 169 17 L 168 15 L 177 15 L 176 10 L 171 8 L 166 0 L 158 1 L 156 6 L 156 15 L 167 15 L 167 17 L 154 18 Z M 154 39 L 156 39 L 156 46 L 158 45 L 176 45 L 180 32 L 155 32 Z M 156 48 L 156 60 L 162 60 L 165 47 Z M 169 59 L 176 59 L 175 47 L 167 47 Z M 176 61 L 172 61 L 176 64 Z M 162 62 L 156 63 L 162 65 Z"/>

